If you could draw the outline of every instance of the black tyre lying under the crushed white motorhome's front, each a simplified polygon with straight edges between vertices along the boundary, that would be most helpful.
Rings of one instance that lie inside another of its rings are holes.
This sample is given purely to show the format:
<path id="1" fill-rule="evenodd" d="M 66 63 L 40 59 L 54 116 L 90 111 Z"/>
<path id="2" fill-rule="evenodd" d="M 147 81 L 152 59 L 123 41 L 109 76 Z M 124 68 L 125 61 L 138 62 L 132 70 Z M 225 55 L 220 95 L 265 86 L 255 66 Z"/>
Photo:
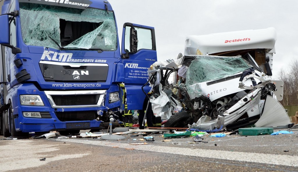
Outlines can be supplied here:
<path id="1" fill-rule="evenodd" d="M 183 128 L 187 124 L 187 119 L 189 119 L 190 115 L 187 112 L 179 112 L 170 117 L 167 122 L 164 124 L 164 127 L 177 127 Z"/>

